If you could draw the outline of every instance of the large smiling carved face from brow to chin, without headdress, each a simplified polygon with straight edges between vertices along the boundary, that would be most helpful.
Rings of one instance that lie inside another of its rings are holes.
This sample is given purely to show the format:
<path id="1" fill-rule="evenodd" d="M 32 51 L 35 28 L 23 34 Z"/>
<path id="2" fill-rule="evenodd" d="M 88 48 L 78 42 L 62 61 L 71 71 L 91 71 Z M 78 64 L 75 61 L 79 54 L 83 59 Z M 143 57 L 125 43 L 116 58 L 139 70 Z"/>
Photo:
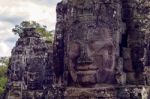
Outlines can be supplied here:
<path id="1" fill-rule="evenodd" d="M 68 56 L 80 83 L 112 83 L 115 46 L 107 26 L 78 24 L 69 38 Z M 78 31 L 77 31 L 78 30 Z"/>

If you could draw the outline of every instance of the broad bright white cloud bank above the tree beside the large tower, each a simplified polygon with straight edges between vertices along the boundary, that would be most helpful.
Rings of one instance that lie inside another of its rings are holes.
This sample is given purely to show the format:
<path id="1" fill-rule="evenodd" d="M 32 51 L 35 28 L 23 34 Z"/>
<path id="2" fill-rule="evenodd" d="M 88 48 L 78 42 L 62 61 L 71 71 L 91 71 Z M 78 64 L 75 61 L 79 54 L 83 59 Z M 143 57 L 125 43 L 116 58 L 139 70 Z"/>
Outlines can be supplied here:
<path id="1" fill-rule="evenodd" d="M 50 7 L 45 5 L 40 5 L 29 0 L 15 0 L 12 1 L 12 5 L 8 2 L 8 5 L 5 5 L 4 2 L 0 0 L 0 15 L 5 16 L 21 16 L 24 20 L 34 20 L 43 25 L 47 25 L 49 29 L 54 29 L 54 26 L 51 23 L 56 23 L 56 5 L 51 5 Z M 3 4 L 1 6 L 1 3 Z M 16 4 L 15 4 L 16 3 Z M 14 6 L 14 5 L 15 6 Z M 20 22 L 23 20 L 20 20 Z"/>

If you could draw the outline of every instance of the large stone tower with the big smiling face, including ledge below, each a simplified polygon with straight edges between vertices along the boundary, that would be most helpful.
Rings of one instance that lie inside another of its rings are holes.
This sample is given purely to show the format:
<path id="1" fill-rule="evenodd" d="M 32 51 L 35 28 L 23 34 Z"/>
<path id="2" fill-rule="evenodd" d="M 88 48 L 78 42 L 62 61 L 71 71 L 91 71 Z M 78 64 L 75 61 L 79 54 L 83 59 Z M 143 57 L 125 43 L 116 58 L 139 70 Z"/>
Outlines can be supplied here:
<path id="1" fill-rule="evenodd" d="M 148 99 L 148 27 L 148 0 L 58 3 L 54 67 L 65 98 Z M 98 96 L 103 84 L 107 97 Z"/>

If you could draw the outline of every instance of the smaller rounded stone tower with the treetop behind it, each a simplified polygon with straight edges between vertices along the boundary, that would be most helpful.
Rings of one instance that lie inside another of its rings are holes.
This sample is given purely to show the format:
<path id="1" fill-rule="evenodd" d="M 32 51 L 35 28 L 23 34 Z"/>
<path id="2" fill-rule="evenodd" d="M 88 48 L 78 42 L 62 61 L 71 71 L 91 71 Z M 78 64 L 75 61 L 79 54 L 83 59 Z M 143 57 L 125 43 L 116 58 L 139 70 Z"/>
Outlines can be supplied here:
<path id="1" fill-rule="evenodd" d="M 8 70 L 8 99 L 15 95 L 23 97 L 25 90 L 43 91 L 44 87 L 53 82 L 50 78 L 53 75 L 51 49 L 52 47 L 40 39 L 34 28 L 24 29 L 12 50 Z"/>

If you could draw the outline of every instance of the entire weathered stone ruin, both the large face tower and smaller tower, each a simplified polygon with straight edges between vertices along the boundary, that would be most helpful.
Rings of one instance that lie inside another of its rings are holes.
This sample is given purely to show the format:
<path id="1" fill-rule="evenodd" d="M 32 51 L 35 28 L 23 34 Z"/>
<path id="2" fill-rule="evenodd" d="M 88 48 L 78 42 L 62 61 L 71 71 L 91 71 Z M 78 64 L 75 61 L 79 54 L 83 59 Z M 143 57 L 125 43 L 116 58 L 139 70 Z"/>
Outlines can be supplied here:
<path id="1" fill-rule="evenodd" d="M 6 99 L 150 99 L 149 0 L 62 0 L 53 48 L 24 29 Z"/>

